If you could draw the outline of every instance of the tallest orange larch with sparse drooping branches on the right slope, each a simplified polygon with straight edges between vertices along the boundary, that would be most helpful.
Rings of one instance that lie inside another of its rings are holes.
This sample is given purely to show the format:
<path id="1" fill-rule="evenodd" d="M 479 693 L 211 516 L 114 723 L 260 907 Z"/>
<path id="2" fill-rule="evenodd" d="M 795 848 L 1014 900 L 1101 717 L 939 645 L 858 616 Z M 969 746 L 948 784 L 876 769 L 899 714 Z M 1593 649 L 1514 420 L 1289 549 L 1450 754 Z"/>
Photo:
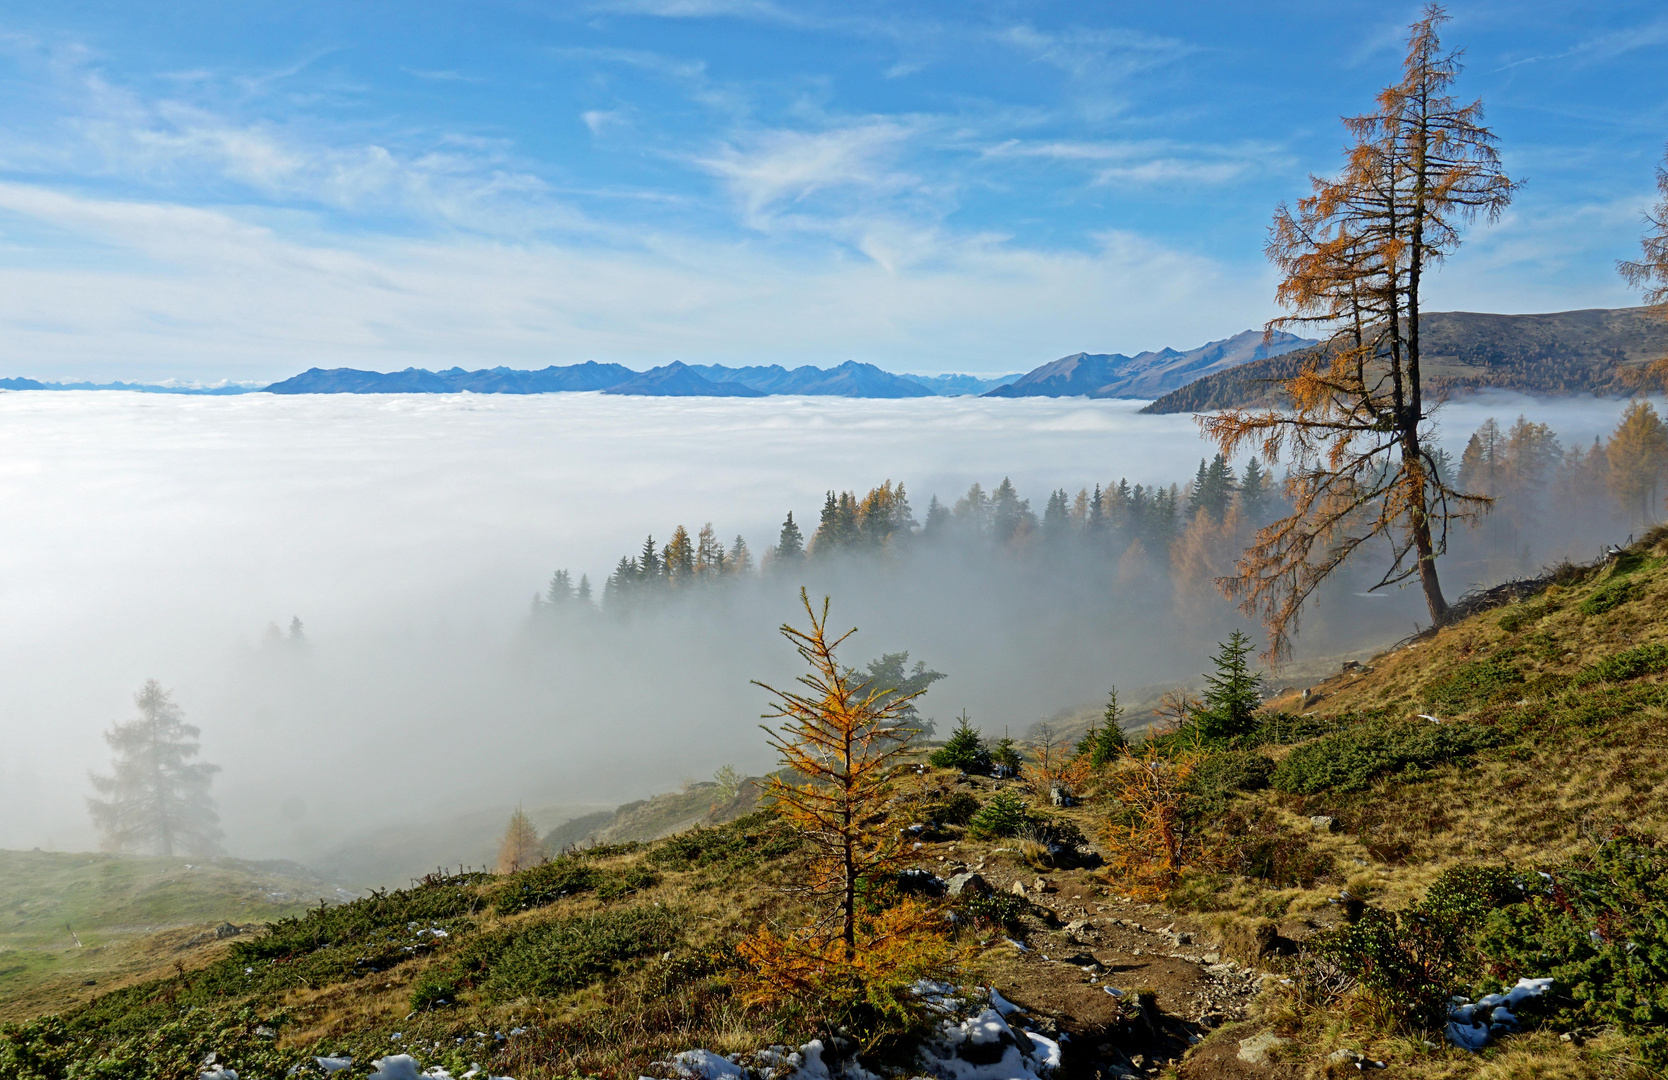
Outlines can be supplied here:
<path id="1" fill-rule="evenodd" d="M 1438 5 L 1411 27 L 1403 77 L 1344 120 L 1353 145 L 1336 179 L 1279 207 L 1268 255 L 1288 315 L 1269 332 L 1319 329 L 1323 344 L 1283 387 L 1289 407 L 1201 417 L 1224 454 L 1288 454 L 1291 512 L 1266 526 L 1223 589 L 1291 651 L 1319 584 L 1371 539 L 1389 543 L 1374 588 L 1418 579 L 1431 623 L 1448 619 L 1436 573 L 1448 524 L 1486 507 L 1449 486 L 1433 457 L 1421 354 L 1424 275 L 1460 247 L 1463 224 L 1496 220 L 1516 184 L 1501 169 L 1483 103 L 1449 93 L 1461 65 L 1444 52 Z"/>

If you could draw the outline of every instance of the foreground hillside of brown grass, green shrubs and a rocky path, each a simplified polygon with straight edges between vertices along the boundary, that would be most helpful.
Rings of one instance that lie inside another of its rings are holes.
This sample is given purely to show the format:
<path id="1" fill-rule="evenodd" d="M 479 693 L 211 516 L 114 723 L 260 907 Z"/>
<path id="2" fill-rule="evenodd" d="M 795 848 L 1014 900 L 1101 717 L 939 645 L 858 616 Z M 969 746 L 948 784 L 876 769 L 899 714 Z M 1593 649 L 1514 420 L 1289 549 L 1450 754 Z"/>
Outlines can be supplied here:
<path id="1" fill-rule="evenodd" d="M 871 1045 L 866 1065 L 987 1078 L 1041 1077 L 1054 1060 L 1066 1080 L 1379 1065 L 1423 1080 L 1661 1075 L 1668 529 L 1463 611 L 1329 678 L 1286 673 L 1299 688 L 1239 734 L 1158 733 L 1153 756 L 1074 773 L 1076 805 L 1049 806 L 1037 748 L 1029 780 L 901 768 L 894 820 L 914 840 L 899 890 L 959 883 L 942 903 L 967 988 L 944 990 L 961 995 L 947 1013 L 927 1010 L 939 1042 L 926 1065 L 902 1037 Z M 517 1080 L 827 1078 L 812 1063 L 841 1037 L 821 1005 L 739 998 L 737 943 L 806 916 L 784 888 L 799 840 L 747 813 L 754 798 L 692 785 L 594 820 L 594 840 L 617 830 L 612 845 L 275 925 L 197 971 L 10 1030 L 0 1067 L 7 1053 L 62 1068 L 100 1055 L 128 1062 L 123 1075 L 175 1077 L 214 1053 L 250 1080 L 312 1070 L 315 1055 L 365 1075 L 409 1053 L 454 1077 L 479 1062 Z M 1133 860 L 1148 850 L 1143 805 L 1174 815 L 1174 871 Z M 704 825 L 627 840 L 691 821 Z M 1449 1012 L 1451 995 L 1520 980 L 1510 1010 L 1481 998 Z M 1444 1027 L 1481 1050 L 1448 1045 Z M 1009 1072 L 977 1072 L 997 1057 Z"/>

